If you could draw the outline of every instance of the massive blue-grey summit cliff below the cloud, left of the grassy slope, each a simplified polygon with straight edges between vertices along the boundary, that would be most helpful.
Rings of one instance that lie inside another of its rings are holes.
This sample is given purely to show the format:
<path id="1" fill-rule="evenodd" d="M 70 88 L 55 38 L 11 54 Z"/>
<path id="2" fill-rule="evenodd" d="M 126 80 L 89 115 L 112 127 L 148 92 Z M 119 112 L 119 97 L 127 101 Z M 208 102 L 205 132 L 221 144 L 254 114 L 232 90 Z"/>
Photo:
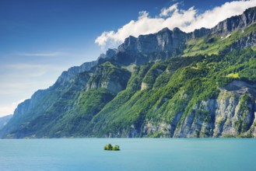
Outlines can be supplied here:
<path id="1" fill-rule="evenodd" d="M 117 48 L 116 61 L 120 64 L 143 65 L 148 61 L 167 60 L 182 54 L 190 35 L 178 28 L 164 28 L 158 33 L 128 37 Z"/>

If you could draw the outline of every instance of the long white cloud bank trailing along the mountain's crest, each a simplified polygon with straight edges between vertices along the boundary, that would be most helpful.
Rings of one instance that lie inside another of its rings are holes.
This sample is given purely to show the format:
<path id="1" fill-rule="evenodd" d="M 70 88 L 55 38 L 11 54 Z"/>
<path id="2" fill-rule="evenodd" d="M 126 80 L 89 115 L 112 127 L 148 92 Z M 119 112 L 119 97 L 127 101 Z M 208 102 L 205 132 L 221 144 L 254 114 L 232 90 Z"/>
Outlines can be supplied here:
<path id="1" fill-rule="evenodd" d="M 117 47 L 126 37 L 130 35 L 138 37 L 141 34 L 156 33 L 168 27 L 174 29 L 179 27 L 184 32 L 191 32 L 202 27 L 212 28 L 217 23 L 230 16 L 240 15 L 245 9 L 256 6 L 256 0 L 226 2 L 214 9 L 198 13 L 198 9 L 191 7 L 184 10 L 179 3 L 175 3 L 168 8 L 161 9 L 159 16 L 150 17 L 149 12 L 139 12 L 137 20 L 132 20 L 117 31 L 105 31 L 97 37 L 95 43 L 100 47 Z"/>

